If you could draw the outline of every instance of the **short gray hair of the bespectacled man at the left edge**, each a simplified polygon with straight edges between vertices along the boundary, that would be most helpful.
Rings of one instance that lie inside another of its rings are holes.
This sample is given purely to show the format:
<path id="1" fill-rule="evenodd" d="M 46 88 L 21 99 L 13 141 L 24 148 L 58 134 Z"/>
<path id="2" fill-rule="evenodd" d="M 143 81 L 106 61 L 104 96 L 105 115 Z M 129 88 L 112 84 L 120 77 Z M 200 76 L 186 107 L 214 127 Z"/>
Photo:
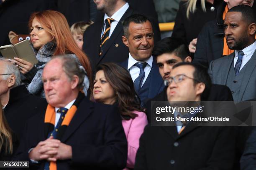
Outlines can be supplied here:
<path id="1" fill-rule="evenodd" d="M 20 79 L 19 69 L 12 63 L 6 61 L 3 57 L 0 57 L 0 62 L 5 63 L 5 69 L 3 72 L 1 72 L 2 74 L 13 74 L 15 76 L 16 80 L 15 80 L 15 84 L 13 85 L 13 87 L 20 85 L 21 79 Z M 8 77 L 10 77 L 10 75 L 2 75 L 2 76 L 3 76 L 3 80 L 7 80 Z"/>

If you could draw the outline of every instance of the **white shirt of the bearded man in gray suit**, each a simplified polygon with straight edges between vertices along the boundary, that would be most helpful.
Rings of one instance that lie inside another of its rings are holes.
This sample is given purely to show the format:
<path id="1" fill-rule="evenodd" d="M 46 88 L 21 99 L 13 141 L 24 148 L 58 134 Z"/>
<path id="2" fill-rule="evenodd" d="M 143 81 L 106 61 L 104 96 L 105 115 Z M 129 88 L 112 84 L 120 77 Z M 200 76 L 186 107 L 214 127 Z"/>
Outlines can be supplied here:
<path id="1" fill-rule="evenodd" d="M 253 55 L 255 50 L 256 50 L 256 41 L 242 50 L 244 55 L 243 55 L 240 70 L 242 70 L 243 66 L 246 65 L 246 63 L 251 59 L 251 56 Z M 238 51 L 239 50 L 235 50 L 234 67 L 236 66 L 236 62 L 238 60 Z"/>

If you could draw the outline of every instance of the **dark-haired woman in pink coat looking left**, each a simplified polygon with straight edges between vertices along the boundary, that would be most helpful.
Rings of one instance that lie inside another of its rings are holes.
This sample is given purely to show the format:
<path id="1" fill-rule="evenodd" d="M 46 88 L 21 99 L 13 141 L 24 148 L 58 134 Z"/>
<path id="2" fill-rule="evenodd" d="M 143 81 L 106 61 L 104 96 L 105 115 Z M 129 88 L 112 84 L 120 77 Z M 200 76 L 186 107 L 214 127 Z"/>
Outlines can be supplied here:
<path id="1" fill-rule="evenodd" d="M 114 63 L 99 65 L 96 69 L 93 97 L 97 102 L 118 105 L 128 141 L 126 168 L 133 168 L 139 138 L 148 121 L 146 114 L 141 112 L 130 73 Z"/>

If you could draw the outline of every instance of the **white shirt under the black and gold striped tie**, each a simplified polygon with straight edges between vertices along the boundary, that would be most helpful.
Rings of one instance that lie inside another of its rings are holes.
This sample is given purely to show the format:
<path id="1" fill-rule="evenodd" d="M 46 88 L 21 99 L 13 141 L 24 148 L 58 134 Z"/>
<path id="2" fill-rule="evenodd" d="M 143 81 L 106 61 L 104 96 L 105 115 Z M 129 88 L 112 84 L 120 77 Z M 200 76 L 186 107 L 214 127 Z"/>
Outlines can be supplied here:
<path id="1" fill-rule="evenodd" d="M 110 27 L 110 32 L 109 32 L 109 37 L 111 36 L 111 34 L 113 33 L 113 31 L 115 30 L 116 25 L 118 24 L 118 22 L 120 21 L 120 19 L 123 17 L 124 13 L 126 12 L 126 10 L 128 9 L 129 4 L 126 2 L 125 5 L 123 5 L 123 7 L 121 7 L 118 11 L 116 11 L 111 17 L 109 17 L 107 14 L 104 15 L 104 27 L 102 29 L 101 32 L 101 36 L 103 35 L 103 33 L 105 32 L 105 19 L 107 18 L 112 18 L 114 19 L 111 23 L 111 27 Z"/>

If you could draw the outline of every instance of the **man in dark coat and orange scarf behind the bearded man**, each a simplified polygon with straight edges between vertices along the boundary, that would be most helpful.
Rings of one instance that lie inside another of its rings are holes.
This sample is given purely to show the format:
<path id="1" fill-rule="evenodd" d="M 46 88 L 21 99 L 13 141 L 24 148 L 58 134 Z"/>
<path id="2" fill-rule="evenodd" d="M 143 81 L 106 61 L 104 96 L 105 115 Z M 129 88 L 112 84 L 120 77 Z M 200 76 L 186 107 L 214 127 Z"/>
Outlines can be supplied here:
<path id="1" fill-rule="evenodd" d="M 227 8 L 231 9 L 241 4 L 249 5 L 256 10 L 256 3 L 253 2 L 254 0 L 223 0 L 221 2 L 217 9 L 216 19 L 206 23 L 198 35 L 193 63 L 208 68 L 212 60 L 230 53 L 227 46 L 224 46 L 223 15 Z"/>

